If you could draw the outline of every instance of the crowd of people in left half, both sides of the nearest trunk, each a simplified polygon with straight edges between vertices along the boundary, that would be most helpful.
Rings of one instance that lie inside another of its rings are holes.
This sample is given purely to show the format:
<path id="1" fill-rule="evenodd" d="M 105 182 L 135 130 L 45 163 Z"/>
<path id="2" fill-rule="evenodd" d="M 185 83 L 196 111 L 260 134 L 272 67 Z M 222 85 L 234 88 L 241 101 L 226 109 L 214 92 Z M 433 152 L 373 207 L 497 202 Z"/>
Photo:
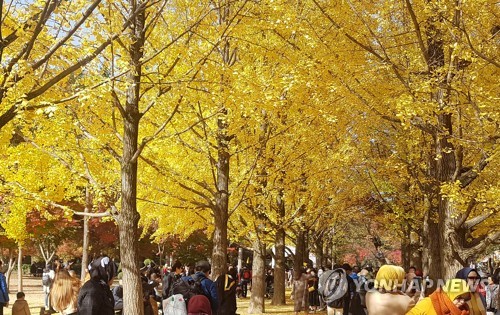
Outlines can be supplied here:
<path id="1" fill-rule="evenodd" d="M 1 267 L 1 261 L 0 261 Z M 118 265 L 107 256 L 94 259 L 86 269 L 86 279 L 81 282 L 71 264 L 63 265 L 59 260 L 47 264 L 42 273 L 42 287 L 45 294 L 45 314 L 62 315 L 118 315 L 123 313 L 123 286 L 115 279 Z M 167 314 L 165 308 L 169 299 L 182 290 L 182 283 L 199 283 L 199 292 L 192 298 L 185 298 L 187 314 L 235 315 L 236 296 L 241 294 L 241 282 L 234 267 L 213 281 L 211 265 L 202 260 L 194 266 L 183 266 L 176 261 L 171 267 L 160 268 L 154 263 L 143 265 L 138 270 L 142 282 L 144 315 Z M 3 277 L 3 278 L 2 278 Z M 180 283 L 180 284 L 179 284 Z M 190 288 L 190 287 L 188 287 Z M 9 302 L 5 276 L 0 273 L 0 303 Z M 31 315 L 23 292 L 17 293 L 12 306 L 13 315 Z M 161 311 L 160 311 L 161 310 Z M 180 314 L 174 311 L 173 314 Z M 0 307 L 3 315 L 3 307 Z"/>

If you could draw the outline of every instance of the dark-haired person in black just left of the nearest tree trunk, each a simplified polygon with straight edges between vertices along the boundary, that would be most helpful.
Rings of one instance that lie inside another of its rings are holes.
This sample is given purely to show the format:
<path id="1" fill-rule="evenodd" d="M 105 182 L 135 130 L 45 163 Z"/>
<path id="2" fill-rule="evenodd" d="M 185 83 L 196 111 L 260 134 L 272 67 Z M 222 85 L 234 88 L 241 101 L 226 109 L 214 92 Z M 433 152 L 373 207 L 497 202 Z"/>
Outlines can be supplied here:
<path id="1" fill-rule="evenodd" d="M 107 256 L 102 256 L 90 263 L 90 280 L 78 294 L 79 315 L 113 315 L 114 298 L 110 283 L 116 275 L 116 265 Z"/>

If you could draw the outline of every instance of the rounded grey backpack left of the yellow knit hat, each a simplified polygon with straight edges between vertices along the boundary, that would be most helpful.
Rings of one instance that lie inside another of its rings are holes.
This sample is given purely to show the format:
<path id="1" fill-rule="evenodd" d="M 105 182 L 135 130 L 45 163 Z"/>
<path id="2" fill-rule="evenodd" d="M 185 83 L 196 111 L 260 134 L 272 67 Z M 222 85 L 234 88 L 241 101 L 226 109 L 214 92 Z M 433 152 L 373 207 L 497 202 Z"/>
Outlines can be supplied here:
<path id="1" fill-rule="evenodd" d="M 344 297 L 348 294 L 349 283 L 345 270 L 338 268 L 325 271 L 319 279 L 318 292 L 326 304 L 333 308 L 342 308 Z"/>

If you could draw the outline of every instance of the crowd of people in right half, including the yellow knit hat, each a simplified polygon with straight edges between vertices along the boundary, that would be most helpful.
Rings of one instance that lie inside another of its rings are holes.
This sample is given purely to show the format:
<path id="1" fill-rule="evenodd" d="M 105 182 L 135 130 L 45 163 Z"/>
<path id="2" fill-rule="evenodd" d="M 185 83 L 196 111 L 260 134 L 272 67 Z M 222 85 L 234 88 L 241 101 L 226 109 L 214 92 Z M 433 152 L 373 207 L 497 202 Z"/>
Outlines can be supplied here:
<path id="1" fill-rule="evenodd" d="M 432 281 L 415 267 L 405 272 L 393 265 L 360 270 L 344 264 L 298 270 L 287 283 L 295 314 L 500 315 L 499 271 L 482 279 L 476 269 L 463 268 L 452 279 Z"/>

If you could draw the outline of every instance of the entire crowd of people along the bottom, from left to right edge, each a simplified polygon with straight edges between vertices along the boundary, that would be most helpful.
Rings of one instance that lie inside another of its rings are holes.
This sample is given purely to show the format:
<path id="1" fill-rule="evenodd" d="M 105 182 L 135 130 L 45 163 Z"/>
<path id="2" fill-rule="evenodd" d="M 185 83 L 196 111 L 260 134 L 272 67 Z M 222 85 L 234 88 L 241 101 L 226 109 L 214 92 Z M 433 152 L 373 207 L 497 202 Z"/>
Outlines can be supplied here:
<path id="1" fill-rule="evenodd" d="M 0 267 L 2 262 L 0 261 Z M 252 270 L 228 266 L 227 273 L 211 278 L 211 265 L 202 260 L 194 266 L 176 261 L 172 266 L 143 265 L 145 315 L 179 314 L 169 310 L 176 298 L 185 303 L 186 314 L 236 315 L 237 299 L 251 290 Z M 123 286 L 113 285 L 118 266 L 107 256 L 94 259 L 82 283 L 71 265 L 56 261 L 43 270 L 42 283 L 47 313 L 63 315 L 114 315 L 123 311 Z M 328 315 L 500 315 L 500 270 L 488 275 L 463 268 L 452 279 L 433 281 L 415 267 L 359 268 L 349 264 L 331 270 L 307 268 L 287 271 L 294 312 L 327 310 Z M 266 296 L 272 295 L 274 274 L 265 275 Z M 5 276 L 0 273 L 0 303 L 8 305 Z M 17 293 L 13 315 L 30 315 L 23 292 Z M 3 307 L 0 307 L 3 315 Z"/>

